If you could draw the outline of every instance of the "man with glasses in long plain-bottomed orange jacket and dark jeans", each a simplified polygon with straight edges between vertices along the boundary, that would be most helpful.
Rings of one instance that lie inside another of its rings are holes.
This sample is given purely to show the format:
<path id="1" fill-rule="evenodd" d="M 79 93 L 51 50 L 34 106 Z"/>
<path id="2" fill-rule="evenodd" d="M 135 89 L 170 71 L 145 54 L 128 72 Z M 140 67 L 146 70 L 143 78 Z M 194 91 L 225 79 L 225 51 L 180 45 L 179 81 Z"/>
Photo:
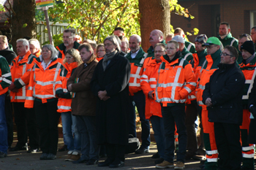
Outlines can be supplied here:
<path id="1" fill-rule="evenodd" d="M 157 71 L 162 63 L 160 57 L 165 55 L 165 53 L 165 45 L 157 43 L 154 47 L 155 58 L 144 65 L 146 66 L 145 72 L 143 72 L 143 75 L 140 77 L 140 85 L 146 96 L 145 117 L 151 120 L 154 130 L 154 139 L 156 139 L 157 150 L 160 157 L 155 161 L 156 164 L 162 163 L 165 158 L 165 128 L 162 120 L 161 105 L 157 103 L 157 101 L 154 101 L 152 93 L 157 87 Z"/>

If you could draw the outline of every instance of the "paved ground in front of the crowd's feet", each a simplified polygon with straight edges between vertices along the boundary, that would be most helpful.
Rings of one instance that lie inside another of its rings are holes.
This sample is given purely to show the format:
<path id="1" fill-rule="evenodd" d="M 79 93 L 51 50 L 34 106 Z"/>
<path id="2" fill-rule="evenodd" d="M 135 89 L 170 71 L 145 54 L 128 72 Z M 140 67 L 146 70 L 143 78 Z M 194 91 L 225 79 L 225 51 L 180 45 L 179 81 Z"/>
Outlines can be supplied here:
<path id="1" fill-rule="evenodd" d="M 63 139 L 59 139 L 59 146 L 63 144 Z M 15 143 L 13 144 L 15 146 Z M 155 169 L 154 160 L 151 159 L 156 150 L 156 144 L 152 143 L 150 152 L 144 155 L 129 154 L 126 155 L 125 166 L 120 169 Z M 1 170 L 75 170 L 75 169 L 109 169 L 108 167 L 86 166 L 85 163 L 74 164 L 69 161 L 64 161 L 67 157 L 67 152 L 58 152 L 57 159 L 53 161 L 41 161 L 39 156 L 42 152 L 26 153 L 26 151 L 8 152 L 7 158 L 0 160 Z M 104 161 L 105 158 L 100 158 Z M 187 161 L 186 169 L 199 169 L 199 161 Z"/>

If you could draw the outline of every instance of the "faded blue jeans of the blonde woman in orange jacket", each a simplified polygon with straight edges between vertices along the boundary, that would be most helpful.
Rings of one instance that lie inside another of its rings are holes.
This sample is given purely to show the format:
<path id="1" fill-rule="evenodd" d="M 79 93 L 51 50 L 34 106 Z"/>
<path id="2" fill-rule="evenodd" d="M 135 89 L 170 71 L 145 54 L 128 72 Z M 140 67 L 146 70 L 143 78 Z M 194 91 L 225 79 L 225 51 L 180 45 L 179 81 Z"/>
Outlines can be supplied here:
<path id="1" fill-rule="evenodd" d="M 64 144 L 67 144 L 68 150 L 81 150 L 81 138 L 78 132 L 78 123 L 71 112 L 62 112 L 62 131 Z M 74 137 L 73 137 L 74 134 Z"/>

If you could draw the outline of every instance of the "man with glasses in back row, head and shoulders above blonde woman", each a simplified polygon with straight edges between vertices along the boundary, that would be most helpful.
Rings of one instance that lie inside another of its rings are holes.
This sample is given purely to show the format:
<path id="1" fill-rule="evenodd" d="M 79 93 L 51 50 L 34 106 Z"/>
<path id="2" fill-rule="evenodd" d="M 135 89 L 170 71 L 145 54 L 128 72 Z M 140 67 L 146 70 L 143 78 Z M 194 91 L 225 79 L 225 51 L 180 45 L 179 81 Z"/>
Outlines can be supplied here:
<path id="1" fill-rule="evenodd" d="M 63 43 L 61 45 L 58 45 L 56 48 L 59 50 L 58 58 L 62 61 L 65 58 L 66 50 L 75 48 L 78 49 L 79 43 L 75 42 L 75 29 L 65 29 L 63 31 Z"/>

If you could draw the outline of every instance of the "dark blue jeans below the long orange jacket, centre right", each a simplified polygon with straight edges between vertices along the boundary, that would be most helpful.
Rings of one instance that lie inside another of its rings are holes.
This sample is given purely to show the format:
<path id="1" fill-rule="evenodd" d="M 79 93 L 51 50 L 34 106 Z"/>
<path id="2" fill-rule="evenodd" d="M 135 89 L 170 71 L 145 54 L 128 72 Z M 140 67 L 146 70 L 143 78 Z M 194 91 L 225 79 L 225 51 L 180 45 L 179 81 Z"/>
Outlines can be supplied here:
<path id="1" fill-rule="evenodd" d="M 152 128 L 154 131 L 154 139 L 157 142 L 157 150 L 160 158 L 165 158 L 165 128 L 162 117 L 150 117 Z"/>

